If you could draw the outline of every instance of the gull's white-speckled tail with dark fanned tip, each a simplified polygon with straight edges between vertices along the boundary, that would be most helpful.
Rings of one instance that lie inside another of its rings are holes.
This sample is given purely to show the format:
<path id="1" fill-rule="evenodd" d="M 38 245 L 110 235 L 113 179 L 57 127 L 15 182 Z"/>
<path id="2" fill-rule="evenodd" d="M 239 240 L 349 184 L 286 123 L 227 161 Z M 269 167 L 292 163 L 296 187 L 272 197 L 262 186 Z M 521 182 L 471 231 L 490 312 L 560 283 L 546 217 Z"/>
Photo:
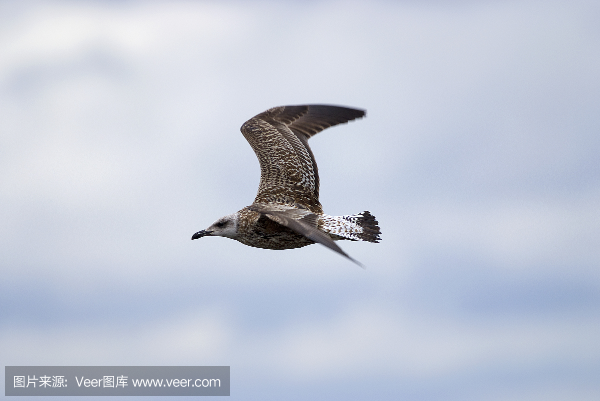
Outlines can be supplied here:
<path id="1" fill-rule="evenodd" d="M 331 234 L 333 239 L 340 237 L 338 239 L 368 242 L 379 242 L 381 240 L 379 237 L 381 234 L 379 222 L 368 211 L 349 216 L 323 215 L 320 220 L 323 224 L 321 229 Z"/>

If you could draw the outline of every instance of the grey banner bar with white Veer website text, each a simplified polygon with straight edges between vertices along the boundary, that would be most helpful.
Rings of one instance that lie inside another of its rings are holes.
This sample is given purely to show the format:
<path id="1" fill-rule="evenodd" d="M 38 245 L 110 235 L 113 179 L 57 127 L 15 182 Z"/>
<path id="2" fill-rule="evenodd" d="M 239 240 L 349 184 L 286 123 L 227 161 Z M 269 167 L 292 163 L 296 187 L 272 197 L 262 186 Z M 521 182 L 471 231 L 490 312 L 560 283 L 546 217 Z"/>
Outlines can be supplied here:
<path id="1" fill-rule="evenodd" d="M 229 366 L 5 366 L 5 396 L 229 396 Z"/>

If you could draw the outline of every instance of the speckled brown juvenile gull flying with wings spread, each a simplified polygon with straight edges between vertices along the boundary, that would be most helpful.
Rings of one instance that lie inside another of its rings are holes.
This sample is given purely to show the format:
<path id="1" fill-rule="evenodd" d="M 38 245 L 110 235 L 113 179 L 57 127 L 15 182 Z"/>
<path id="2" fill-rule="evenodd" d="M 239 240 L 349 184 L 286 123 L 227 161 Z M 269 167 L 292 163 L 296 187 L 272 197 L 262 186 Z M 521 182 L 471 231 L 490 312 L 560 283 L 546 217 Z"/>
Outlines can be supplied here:
<path id="1" fill-rule="evenodd" d="M 266 249 L 292 249 L 319 242 L 344 255 L 334 241 L 378 242 L 379 224 L 370 212 L 323 214 L 319 173 L 308 139 L 325 128 L 362 118 L 364 110 L 332 105 L 269 108 L 242 125 L 241 131 L 260 163 L 254 202 L 224 216 L 191 239 L 220 236 Z"/>

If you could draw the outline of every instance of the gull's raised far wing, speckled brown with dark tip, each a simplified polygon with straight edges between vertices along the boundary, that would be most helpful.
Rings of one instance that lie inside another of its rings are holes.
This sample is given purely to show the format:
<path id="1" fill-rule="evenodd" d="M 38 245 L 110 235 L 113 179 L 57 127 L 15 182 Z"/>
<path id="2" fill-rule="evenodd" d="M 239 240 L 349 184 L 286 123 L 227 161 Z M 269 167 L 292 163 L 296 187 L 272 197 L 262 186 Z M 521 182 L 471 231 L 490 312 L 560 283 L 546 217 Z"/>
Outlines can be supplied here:
<path id="1" fill-rule="evenodd" d="M 254 203 L 298 203 L 322 213 L 319 171 L 308 138 L 364 115 L 355 108 L 310 104 L 269 108 L 245 122 L 242 134 L 260 163 Z"/>

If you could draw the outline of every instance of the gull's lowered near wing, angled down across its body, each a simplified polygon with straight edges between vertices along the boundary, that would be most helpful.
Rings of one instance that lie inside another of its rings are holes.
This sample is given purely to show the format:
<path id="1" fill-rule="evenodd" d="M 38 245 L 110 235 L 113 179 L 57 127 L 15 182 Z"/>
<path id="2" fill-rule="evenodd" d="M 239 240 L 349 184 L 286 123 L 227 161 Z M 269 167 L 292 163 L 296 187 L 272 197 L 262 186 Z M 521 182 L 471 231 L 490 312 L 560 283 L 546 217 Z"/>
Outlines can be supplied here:
<path id="1" fill-rule="evenodd" d="M 260 213 L 277 222 L 290 230 L 296 231 L 296 233 L 307 237 L 314 242 L 318 242 L 325 245 L 332 251 L 338 252 L 338 254 L 350 259 L 358 266 L 364 269 L 364 266 L 359 261 L 349 257 L 346 252 L 342 251 L 339 246 L 331 239 L 327 234 L 317 228 L 317 220 L 319 216 L 311 213 L 308 210 L 297 209 L 292 206 L 283 206 L 279 204 L 251 204 L 248 206 L 248 210 Z"/>

